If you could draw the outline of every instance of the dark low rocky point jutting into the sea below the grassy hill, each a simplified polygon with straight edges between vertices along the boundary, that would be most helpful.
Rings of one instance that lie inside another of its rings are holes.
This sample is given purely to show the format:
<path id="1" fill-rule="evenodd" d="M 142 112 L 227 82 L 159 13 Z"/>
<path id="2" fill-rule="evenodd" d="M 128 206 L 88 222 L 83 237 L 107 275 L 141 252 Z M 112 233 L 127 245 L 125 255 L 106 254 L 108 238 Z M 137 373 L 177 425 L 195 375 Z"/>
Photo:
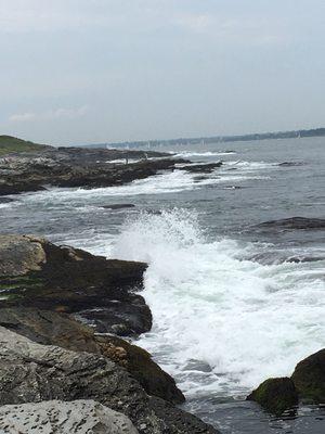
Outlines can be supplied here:
<path id="1" fill-rule="evenodd" d="M 168 158 L 146 159 L 147 156 Z M 109 163 L 115 158 L 144 158 L 130 164 Z M 173 169 L 170 154 L 143 151 L 87 150 L 58 148 L 12 154 L 0 161 L 0 195 L 43 190 L 44 186 L 99 188 L 120 186 L 135 179 Z"/>

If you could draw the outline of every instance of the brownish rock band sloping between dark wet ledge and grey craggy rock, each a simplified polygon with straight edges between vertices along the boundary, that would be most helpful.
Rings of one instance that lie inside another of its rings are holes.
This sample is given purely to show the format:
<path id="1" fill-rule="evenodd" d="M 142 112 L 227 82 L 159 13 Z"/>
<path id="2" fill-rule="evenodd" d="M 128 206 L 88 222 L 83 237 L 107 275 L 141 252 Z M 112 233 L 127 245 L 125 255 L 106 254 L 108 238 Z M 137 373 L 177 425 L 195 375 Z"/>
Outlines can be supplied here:
<path id="1" fill-rule="evenodd" d="M 146 350 L 116 336 L 96 335 L 69 315 L 24 307 L 4 308 L 0 309 L 0 326 L 39 344 L 103 355 L 126 368 L 147 394 L 174 404 L 184 401 L 174 380 Z"/>

